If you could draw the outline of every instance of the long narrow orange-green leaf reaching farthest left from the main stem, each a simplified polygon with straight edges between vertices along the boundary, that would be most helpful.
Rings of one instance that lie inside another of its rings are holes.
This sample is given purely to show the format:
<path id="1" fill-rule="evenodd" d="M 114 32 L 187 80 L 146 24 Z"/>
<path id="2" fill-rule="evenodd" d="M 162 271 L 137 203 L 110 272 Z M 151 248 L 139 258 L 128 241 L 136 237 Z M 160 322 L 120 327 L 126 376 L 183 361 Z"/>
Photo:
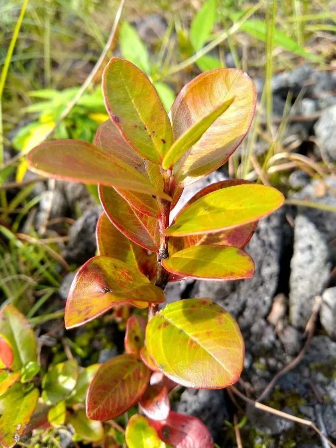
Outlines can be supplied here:
<path id="1" fill-rule="evenodd" d="M 35 173 L 55 179 L 112 185 L 170 200 L 133 167 L 87 141 L 46 141 L 27 154 L 27 161 Z"/>

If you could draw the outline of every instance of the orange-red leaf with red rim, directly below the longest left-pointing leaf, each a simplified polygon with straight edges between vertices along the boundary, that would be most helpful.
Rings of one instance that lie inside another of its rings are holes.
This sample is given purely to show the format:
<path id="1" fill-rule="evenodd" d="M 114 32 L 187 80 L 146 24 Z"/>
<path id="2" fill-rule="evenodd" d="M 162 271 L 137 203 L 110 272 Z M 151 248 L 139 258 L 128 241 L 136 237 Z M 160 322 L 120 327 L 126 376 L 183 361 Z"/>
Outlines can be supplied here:
<path id="1" fill-rule="evenodd" d="M 133 209 L 113 188 L 99 186 L 103 209 L 115 227 L 135 244 L 157 252 L 160 245 L 157 218 Z"/>

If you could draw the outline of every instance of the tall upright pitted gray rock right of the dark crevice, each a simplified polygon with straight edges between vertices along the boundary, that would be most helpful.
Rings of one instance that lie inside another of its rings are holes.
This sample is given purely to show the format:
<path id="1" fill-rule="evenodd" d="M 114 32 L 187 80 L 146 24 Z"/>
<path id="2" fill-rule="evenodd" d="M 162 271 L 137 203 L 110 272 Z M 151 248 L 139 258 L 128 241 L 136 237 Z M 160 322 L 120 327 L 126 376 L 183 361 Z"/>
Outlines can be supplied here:
<path id="1" fill-rule="evenodd" d="M 304 329 L 312 313 L 315 296 L 322 294 L 329 279 L 328 244 L 308 218 L 298 215 L 294 227 L 294 253 L 290 274 L 290 319 Z"/>

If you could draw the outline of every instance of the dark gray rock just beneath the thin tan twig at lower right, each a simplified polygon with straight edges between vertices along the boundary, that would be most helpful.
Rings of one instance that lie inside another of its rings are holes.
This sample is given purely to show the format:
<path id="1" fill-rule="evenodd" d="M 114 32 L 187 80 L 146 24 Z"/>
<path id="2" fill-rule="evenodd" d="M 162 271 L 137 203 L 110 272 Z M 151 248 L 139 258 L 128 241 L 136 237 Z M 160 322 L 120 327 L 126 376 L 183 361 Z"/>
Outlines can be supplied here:
<path id="1" fill-rule="evenodd" d="M 290 410 L 284 409 L 284 412 L 290 413 Z M 290 420 L 260 411 L 253 406 L 248 406 L 246 413 L 250 424 L 266 436 L 277 436 L 288 431 L 294 425 L 294 422 Z"/>

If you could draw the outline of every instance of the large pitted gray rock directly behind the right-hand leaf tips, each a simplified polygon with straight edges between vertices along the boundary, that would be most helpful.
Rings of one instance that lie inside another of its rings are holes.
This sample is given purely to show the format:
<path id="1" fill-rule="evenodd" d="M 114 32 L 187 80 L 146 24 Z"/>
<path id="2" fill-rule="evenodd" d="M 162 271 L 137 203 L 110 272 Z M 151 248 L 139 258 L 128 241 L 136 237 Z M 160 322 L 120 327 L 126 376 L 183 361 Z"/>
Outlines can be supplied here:
<path id="1" fill-rule="evenodd" d="M 278 285 L 282 248 L 283 210 L 262 219 L 246 246 L 255 262 L 251 279 L 233 282 L 197 281 L 193 290 L 196 297 L 209 297 L 227 311 L 239 317 L 241 329 L 249 328 L 268 315 Z"/>

